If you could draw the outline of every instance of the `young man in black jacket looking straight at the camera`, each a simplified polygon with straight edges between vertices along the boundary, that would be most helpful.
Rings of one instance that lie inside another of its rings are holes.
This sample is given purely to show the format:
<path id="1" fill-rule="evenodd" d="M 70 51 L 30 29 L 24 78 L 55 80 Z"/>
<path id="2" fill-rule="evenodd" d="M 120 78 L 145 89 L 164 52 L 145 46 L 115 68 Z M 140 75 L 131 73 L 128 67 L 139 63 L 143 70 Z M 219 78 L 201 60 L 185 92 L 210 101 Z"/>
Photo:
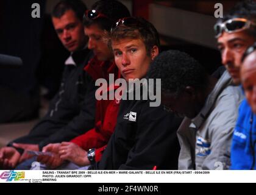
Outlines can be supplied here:
<path id="1" fill-rule="evenodd" d="M 110 37 L 115 63 L 126 82 L 146 77 L 159 52 L 155 27 L 143 18 L 119 19 Z M 134 90 L 129 88 L 127 97 L 141 92 L 144 83 L 138 86 Z M 177 169 L 176 130 L 180 119 L 163 110 L 162 105 L 151 107 L 143 93 L 139 98 L 121 100 L 115 132 L 101 161 L 90 169 Z"/>

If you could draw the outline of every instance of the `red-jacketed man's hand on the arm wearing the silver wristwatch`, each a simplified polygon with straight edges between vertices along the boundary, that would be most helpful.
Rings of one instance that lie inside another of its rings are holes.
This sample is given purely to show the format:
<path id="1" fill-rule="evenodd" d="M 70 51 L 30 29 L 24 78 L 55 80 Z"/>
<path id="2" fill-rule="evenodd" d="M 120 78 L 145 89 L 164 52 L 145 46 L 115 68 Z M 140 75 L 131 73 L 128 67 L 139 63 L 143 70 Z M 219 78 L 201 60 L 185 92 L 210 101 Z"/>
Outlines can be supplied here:
<path id="1" fill-rule="evenodd" d="M 84 151 L 77 144 L 71 142 L 62 142 L 59 155 L 63 160 L 69 160 L 78 166 L 90 165 L 90 161 L 87 158 L 87 151 Z"/>

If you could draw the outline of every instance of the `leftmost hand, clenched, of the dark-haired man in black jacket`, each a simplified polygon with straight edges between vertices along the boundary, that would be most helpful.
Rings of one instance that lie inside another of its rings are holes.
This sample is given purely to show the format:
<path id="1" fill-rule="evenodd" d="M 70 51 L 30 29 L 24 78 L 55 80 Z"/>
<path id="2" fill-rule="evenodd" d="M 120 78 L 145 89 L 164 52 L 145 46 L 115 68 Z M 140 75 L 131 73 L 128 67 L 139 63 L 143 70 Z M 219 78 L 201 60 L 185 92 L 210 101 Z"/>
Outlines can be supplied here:
<path id="1" fill-rule="evenodd" d="M 13 169 L 18 164 L 21 155 L 14 147 L 2 147 L 0 149 L 0 167 Z"/>

